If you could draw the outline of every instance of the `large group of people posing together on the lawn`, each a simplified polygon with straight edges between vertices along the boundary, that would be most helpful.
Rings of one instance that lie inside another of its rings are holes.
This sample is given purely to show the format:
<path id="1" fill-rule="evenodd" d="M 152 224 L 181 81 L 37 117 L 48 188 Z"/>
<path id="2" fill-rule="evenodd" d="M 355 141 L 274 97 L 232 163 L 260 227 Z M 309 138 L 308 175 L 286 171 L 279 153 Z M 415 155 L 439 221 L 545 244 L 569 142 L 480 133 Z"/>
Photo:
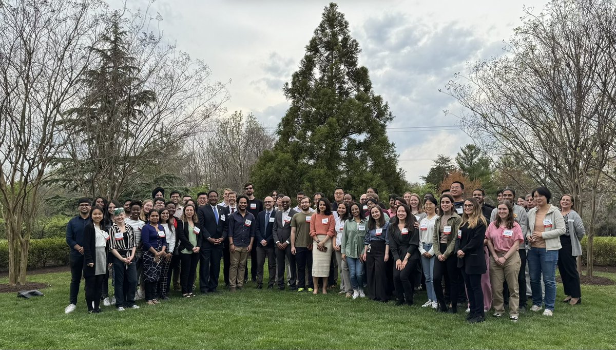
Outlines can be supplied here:
<path id="1" fill-rule="evenodd" d="M 156 305 L 171 288 L 184 298 L 196 296 L 197 285 L 201 294 L 216 293 L 221 260 L 231 292 L 250 279 L 257 289 L 326 294 L 333 286 L 350 299 L 411 305 L 425 290 L 421 307 L 450 313 L 461 307 L 470 323 L 483 322 L 490 309 L 502 317 L 506 308 L 516 322 L 529 297 L 530 311 L 553 315 L 556 267 L 563 301 L 582 303 L 576 258 L 585 230 L 572 195 L 562 195 L 558 208 L 546 187 L 525 197 L 507 187 L 498 191 L 495 208 L 482 189 L 468 198 L 463 193 L 456 181 L 438 198 L 392 194 L 386 206 L 373 187 L 359 200 L 337 187 L 332 201 L 298 192 L 291 208 L 289 195 L 274 191 L 260 200 L 248 183 L 241 194 L 225 189 L 222 201 L 216 190 L 198 193 L 196 201 L 173 191 L 166 200 L 161 187 L 151 199 L 123 205 L 80 198 L 79 214 L 67 226 L 65 312 L 76 309 L 82 276 L 93 314 L 101 301 L 118 311 L 139 309 L 141 298 Z"/>

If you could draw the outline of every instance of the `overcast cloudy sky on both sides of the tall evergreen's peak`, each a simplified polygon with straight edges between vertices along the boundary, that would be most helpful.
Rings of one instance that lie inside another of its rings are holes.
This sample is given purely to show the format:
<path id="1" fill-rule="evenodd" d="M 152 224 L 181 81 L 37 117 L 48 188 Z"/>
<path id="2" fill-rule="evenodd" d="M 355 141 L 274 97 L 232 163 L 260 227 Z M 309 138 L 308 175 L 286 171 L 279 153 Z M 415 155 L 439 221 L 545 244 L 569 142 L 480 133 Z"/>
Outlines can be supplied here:
<path id="1" fill-rule="evenodd" d="M 144 9 L 144 0 L 128 6 Z M 142 5 L 139 5 L 139 4 Z M 389 138 L 407 180 L 419 181 L 439 153 L 454 157 L 471 139 L 455 128 L 460 110 L 439 92 L 466 62 L 500 55 L 503 40 L 521 25 L 524 6 L 546 0 L 338 1 L 362 47 L 376 94 L 395 119 Z M 328 1 L 158 0 L 150 12 L 182 51 L 208 63 L 213 78 L 229 81 L 230 112 L 252 112 L 274 130 L 288 108 L 282 85 L 304 55 Z M 453 126 L 453 127 L 452 127 Z M 400 129 L 428 127 L 428 129 Z M 410 131 L 412 130 L 412 131 Z"/>

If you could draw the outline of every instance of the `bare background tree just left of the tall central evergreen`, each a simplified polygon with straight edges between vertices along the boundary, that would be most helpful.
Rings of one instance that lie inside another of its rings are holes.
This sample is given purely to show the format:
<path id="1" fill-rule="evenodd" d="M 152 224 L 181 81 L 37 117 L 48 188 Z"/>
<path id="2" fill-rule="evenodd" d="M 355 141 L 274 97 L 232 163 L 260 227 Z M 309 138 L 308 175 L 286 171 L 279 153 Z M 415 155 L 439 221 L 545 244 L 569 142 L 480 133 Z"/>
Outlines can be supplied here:
<path id="1" fill-rule="evenodd" d="M 208 128 L 187 145 L 188 166 L 183 168 L 190 185 L 208 184 L 211 189 L 242 189 L 251 166 L 275 138 L 254 115 L 235 112 L 211 120 Z"/>

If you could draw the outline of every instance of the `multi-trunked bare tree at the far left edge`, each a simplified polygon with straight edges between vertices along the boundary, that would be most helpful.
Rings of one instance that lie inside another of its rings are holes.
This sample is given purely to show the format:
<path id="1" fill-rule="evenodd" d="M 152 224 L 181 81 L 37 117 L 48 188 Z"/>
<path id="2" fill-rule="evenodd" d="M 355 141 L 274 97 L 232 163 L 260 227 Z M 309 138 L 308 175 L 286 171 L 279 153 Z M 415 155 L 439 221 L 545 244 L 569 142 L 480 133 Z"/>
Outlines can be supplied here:
<path id="1" fill-rule="evenodd" d="M 77 81 L 95 42 L 94 1 L 0 1 L 0 203 L 9 241 L 9 283 L 26 282 L 31 225 L 58 123 L 75 105 Z"/>

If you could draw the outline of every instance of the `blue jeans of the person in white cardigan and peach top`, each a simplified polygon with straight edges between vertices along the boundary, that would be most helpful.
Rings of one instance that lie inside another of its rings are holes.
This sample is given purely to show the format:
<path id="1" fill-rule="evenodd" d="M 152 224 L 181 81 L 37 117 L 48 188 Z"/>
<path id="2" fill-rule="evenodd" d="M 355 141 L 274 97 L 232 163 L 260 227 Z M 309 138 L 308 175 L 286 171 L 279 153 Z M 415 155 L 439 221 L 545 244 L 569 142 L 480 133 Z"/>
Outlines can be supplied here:
<path id="1" fill-rule="evenodd" d="M 529 264 L 530 288 L 533 291 L 533 305 L 541 306 L 541 275 L 543 275 L 545 308 L 554 311 L 558 251 L 530 248 L 527 261 Z"/>

